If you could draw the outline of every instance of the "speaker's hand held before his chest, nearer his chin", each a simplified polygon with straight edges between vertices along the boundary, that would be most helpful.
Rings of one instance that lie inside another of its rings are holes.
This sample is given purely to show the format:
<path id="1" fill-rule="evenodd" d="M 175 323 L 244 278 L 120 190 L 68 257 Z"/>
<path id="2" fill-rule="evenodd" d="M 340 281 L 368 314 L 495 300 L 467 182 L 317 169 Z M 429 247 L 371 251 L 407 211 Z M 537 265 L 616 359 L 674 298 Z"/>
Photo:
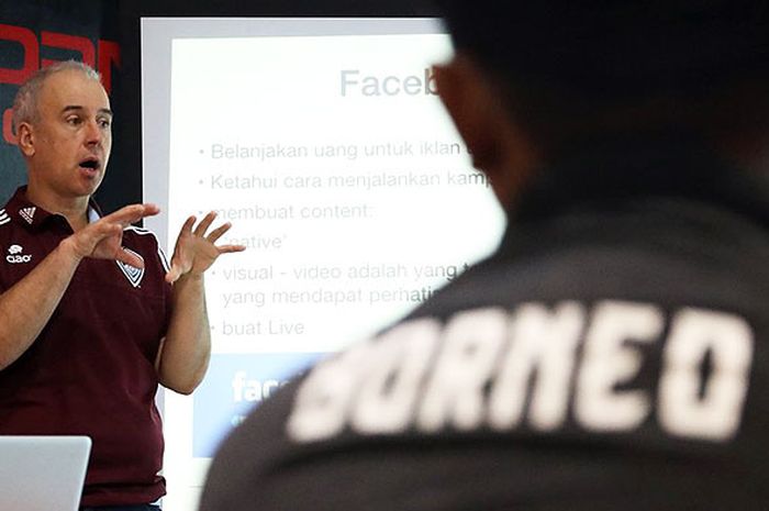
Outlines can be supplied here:
<path id="1" fill-rule="evenodd" d="M 143 268 L 144 262 L 141 258 L 123 249 L 123 229 L 159 212 L 160 209 L 155 204 L 126 205 L 89 223 L 69 236 L 66 243 L 79 258 L 116 259 L 136 268 Z"/>

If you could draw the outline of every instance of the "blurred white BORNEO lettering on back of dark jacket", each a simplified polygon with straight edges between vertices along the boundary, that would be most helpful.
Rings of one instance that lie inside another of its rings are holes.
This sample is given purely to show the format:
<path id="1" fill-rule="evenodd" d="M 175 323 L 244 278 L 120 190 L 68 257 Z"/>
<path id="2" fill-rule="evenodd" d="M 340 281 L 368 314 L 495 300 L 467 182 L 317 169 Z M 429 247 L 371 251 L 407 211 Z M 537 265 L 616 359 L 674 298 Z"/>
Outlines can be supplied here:
<path id="1" fill-rule="evenodd" d="M 468 310 L 445 324 L 399 324 L 319 365 L 287 430 L 297 442 L 345 429 L 553 432 L 571 418 L 622 433 L 654 419 L 668 435 L 723 442 L 740 425 L 753 349 L 743 318 L 704 309 L 666 318 L 654 304 L 605 300 Z"/>

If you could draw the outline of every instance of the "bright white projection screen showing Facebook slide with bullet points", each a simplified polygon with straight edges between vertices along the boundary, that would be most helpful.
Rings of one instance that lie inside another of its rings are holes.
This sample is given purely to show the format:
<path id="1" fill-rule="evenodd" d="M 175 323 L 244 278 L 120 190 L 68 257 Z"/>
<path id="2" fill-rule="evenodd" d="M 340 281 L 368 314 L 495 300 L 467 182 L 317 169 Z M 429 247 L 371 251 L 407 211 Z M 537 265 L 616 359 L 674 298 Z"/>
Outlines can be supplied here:
<path id="1" fill-rule="evenodd" d="M 170 253 L 187 215 L 215 210 L 247 251 L 207 274 L 204 382 L 165 397 L 167 511 L 190 509 L 179 496 L 254 407 L 427 300 L 504 226 L 436 96 L 452 48 L 435 20 L 174 21 L 192 25 L 143 23 L 149 226 Z"/>

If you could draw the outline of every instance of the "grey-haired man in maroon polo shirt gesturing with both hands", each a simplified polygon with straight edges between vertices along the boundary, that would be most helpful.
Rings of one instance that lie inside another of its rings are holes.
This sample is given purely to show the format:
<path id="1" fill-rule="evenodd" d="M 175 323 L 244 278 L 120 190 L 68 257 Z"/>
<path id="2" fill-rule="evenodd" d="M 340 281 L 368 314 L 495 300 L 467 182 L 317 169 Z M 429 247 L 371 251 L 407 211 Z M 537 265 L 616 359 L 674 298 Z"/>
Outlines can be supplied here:
<path id="1" fill-rule="evenodd" d="M 188 219 L 171 265 L 132 226 L 159 212 L 101 215 L 91 196 L 110 157 L 112 112 L 80 63 L 42 69 L 13 105 L 29 184 L 0 210 L 0 434 L 93 441 L 83 509 L 157 509 L 158 384 L 190 393 L 210 355 L 203 273 L 229 229 Z M 1 500 L 1 497 L 0 497 Z M 115 508 L 118 507 L 118 508 Z"/>

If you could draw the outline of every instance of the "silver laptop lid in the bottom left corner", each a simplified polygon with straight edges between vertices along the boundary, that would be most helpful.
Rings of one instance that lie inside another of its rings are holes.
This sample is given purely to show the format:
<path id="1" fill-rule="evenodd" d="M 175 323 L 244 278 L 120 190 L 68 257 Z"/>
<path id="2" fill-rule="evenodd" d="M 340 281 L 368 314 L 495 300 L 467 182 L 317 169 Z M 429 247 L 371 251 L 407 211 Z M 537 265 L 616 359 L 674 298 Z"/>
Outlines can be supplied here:
<path id="1" fill-rule="evenodd" d="M 0 435 L 0 510 L 77 511 L 88 436 Z"/>

